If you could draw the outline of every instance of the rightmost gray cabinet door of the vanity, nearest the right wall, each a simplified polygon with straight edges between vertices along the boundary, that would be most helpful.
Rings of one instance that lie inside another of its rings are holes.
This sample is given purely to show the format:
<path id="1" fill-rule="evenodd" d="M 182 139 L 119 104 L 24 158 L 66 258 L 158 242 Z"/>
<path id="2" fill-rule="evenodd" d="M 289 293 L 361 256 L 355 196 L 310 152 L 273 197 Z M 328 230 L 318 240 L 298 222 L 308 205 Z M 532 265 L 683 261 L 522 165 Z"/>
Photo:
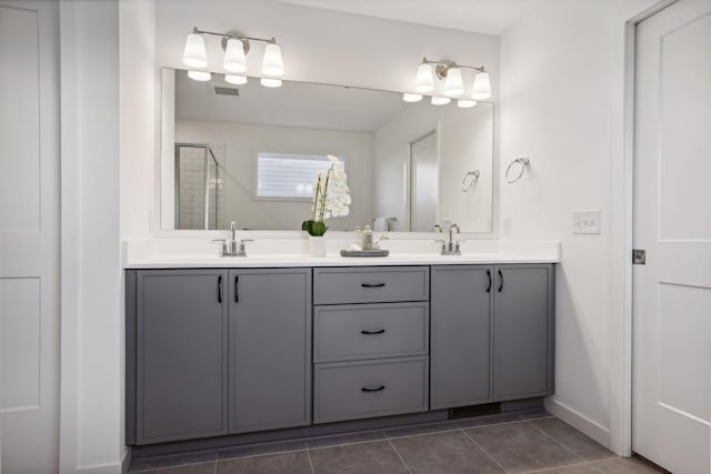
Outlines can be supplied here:
<path id="1" fill-rule="evenodd" d="M 495 268 L 494 401 L 552 392 L 552 266 Z"/>

